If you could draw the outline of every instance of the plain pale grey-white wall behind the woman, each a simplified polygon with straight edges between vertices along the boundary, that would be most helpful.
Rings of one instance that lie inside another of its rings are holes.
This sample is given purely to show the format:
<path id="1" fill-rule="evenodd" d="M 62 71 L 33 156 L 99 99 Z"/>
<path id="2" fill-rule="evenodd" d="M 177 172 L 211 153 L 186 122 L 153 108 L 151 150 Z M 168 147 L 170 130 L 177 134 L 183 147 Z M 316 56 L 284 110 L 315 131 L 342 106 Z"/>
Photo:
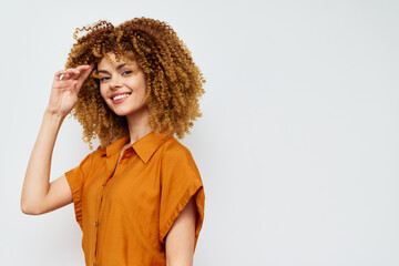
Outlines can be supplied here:
<path id="1" fill-rule="evenodd" d="M 207 79 L 183 143 L 206 193 L 195 264 L 399 265 L 399 1 L 0 2 L 0 264 L 83 265 L 72 204 L 20 193 L 75 28 L 167 21 Z M 66 119 L 51 180 L 91 152 Z"/>

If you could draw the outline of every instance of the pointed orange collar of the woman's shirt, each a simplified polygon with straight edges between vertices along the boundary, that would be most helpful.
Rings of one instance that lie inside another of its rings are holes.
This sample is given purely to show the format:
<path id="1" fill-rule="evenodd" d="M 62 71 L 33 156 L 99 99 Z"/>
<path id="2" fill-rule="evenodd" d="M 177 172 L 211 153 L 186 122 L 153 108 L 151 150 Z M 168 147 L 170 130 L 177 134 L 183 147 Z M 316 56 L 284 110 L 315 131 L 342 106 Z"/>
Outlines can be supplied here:
<path id="1" fill-rule="evenodd" d="M 163 133 L 151 132 L 133 143 L 131 146 L 137 153 L 139 157 L 146 164 L 155 151 L 164 143 L 166 140 L 172 137 L 172 135 L 166 135 Z M 103 155 L 106 154 L 106 157 L 110 157 L 116 153 L 120 153 L 122 147 L 130 141 L 130 135 L 126 133 L 121 136 L 105 149 L 103 149 Z"/>

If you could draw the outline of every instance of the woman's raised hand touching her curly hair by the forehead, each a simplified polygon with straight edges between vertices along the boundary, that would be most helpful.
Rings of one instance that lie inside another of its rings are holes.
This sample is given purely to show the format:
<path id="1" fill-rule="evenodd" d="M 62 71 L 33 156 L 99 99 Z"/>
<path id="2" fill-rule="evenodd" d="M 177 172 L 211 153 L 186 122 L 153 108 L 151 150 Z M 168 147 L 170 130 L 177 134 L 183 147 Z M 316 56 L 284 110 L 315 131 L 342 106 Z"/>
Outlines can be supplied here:
<path id="1" fill-rule="evenodd" d="M 55 73 L 47 112 L 66 116 L 78 102 L 78 93 L 95 64 L 60 70 Z"/>

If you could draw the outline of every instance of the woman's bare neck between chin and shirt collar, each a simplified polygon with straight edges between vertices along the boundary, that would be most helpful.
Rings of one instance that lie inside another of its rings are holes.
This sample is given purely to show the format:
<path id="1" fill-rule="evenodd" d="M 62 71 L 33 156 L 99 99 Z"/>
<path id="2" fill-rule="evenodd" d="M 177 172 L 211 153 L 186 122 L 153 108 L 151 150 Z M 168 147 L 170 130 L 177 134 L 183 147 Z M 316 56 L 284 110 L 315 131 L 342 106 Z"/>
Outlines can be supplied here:
<path id="1" fill-rule="evenodd" d="M 131 115 L 126 115 L 130 135 L 130 145 L 152 132 L 149 125 L 150 111 L 147 108 L 137 110 Z"/>

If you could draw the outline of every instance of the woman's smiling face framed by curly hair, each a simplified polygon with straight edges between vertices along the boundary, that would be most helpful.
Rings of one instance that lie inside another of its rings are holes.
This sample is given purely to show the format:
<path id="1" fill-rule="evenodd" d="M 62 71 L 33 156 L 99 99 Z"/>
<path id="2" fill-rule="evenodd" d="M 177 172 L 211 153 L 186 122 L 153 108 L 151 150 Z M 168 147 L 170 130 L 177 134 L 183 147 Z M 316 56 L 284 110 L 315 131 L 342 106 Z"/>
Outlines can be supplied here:
<path id="1" fill-rule="evenodd" d="M 103 58 L 98 64 L 101 96 L 119 116 L 147 115 L 144 71 L 135 61 L 116 60 L 114 53 L 108 55 L 113 62 Z"/>

